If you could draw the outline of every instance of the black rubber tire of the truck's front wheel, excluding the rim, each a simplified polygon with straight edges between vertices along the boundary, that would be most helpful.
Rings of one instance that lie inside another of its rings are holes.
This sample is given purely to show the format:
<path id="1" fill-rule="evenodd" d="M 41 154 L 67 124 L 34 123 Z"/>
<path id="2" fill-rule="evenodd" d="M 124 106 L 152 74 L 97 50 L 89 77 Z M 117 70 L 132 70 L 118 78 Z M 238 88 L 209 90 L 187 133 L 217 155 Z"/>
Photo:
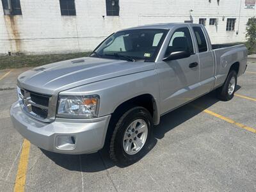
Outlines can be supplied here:
<path id="1" fill-rule="evenodd" d="M 123 147 L 125 131 L 127 131 L 127 128 L 132 122 L 134 122 L 134 120 L 140 119 L 144 120 L 147 124 L 147 139 L 145 140 L 143 147 L 136 154 L 130 155 L 125 152 Z M 110 159 L 125 166 L 136 163 L 136 161 L 140 160 L 148 151 L 148 146 L 152 137 L 152 129 L 152 116 L 147 109 L 134 107 L 126 111 L 124 115 L 119 118 L 111 136 L 109 146 Z"/>

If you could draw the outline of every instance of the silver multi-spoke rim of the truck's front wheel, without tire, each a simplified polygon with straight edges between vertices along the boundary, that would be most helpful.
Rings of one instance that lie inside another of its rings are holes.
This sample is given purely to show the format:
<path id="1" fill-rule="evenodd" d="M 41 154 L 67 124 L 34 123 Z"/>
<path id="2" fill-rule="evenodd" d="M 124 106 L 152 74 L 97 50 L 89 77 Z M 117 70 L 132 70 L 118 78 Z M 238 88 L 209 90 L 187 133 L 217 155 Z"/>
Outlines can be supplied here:
<path id="1" fill-rule="evenodd" d="M 123 147 L 125 153 L 134 155 L 138 153 L 146 143 L 148 125 L 143 119 L 134 120 L 125 130 Z"/>

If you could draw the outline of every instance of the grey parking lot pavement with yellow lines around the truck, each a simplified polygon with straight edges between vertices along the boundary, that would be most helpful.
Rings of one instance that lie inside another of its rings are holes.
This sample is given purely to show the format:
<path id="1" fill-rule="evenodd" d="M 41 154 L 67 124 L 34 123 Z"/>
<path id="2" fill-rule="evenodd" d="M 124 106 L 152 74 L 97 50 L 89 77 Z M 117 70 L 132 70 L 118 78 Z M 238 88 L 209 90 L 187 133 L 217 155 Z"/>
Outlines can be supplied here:
<path id="1" fill-rule="evenodd" d="M 54 154 L 24 141 L 9 115 L 24 70 L 0 71 L 0 191 L 256 191 L 255 60 L 234 99 L 212 92 L 162 116 L 150 152 L 125 168 L 102 152 Z"/>

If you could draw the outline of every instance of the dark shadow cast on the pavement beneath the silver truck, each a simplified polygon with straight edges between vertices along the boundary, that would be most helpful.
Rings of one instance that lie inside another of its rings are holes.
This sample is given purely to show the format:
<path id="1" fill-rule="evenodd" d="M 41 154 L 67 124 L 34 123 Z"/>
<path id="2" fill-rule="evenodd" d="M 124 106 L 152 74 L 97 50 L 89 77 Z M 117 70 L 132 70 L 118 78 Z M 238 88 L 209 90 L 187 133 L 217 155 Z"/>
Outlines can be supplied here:
<path id="1" fill-rule="evenodd" d="M 239 88 L 241 88 L 241 86 L 237 85 L 236 91 L 239 90 Z M 172 129 L 186 122 L 190 118 L 193 118 L 193 116 L 202 113 L 204 109 L 209 108 L 216 102 L 220 102 L 220 100 L 216 99 L 216 92 L 211 92 L 203 97 L 200 97 L 199 99 L 194 100 L 193 102 L 190 102 L 189 104 L 161 116 L 161 123 L 154 127 L 154 137 L 152 138 L 148 152 L 150 152 L 150 150 L 157 145 L 157 140 L 164 138 L 164 135 L 167 132 L 172 131 Z M 195 108 L 195 106 L 198 108 Z M 54 163 L 67 170 L 77 172 L 100 172 L 103 170 L 108 170 L 113 166 L 124 168 L 124 166 L 113 163 L 108 158 L 108 154 L 104 151 L 94 154 L 67 155 L 48 152 L 43 149 L 41 150 L 45 156 L 49 157 L 49 159 L 54 161 Z"/>

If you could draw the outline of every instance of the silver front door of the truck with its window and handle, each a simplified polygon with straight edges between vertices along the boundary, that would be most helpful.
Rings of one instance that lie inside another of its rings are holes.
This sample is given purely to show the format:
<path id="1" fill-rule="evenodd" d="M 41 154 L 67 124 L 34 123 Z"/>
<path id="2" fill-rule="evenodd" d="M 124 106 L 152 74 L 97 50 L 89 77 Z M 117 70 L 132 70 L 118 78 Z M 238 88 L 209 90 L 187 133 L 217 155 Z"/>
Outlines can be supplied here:
<path id="1" fill-rule="evenodd" d="M 163 48 L 162 56 L 164 58 L 171 52 L 182 50 L 188 50 L 191 56 L 179 60 L 157 62 L 162 114 L 198 96 L 199 60 L 194 51 L 190 30 L 188 26 L 175 29 L 163 46 L 165 48 Z"/>

